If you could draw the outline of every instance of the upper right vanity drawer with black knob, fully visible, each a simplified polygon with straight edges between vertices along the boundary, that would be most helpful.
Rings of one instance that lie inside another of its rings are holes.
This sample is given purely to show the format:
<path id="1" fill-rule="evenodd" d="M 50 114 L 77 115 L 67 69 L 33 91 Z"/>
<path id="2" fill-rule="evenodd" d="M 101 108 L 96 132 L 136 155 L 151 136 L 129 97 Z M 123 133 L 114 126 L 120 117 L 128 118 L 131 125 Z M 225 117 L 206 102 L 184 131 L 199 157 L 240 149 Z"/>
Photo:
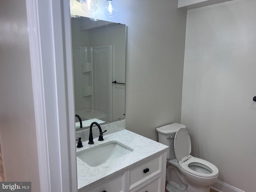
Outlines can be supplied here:
<path id="1" fill-rule="evenodd" d="M 160 174 L 162 172 L 162 159 L 162 154 L 159 154 L 130 168 L 128 172 L 129 191 Z"/>

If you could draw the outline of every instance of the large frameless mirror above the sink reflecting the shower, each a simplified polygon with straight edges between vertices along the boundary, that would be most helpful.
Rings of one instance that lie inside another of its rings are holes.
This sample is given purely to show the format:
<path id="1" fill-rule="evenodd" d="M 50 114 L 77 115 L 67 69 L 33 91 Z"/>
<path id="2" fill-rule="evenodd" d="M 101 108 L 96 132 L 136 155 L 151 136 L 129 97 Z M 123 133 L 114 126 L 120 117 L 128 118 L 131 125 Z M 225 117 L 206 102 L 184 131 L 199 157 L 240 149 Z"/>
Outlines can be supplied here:
<path id="1" fill-rule="evenodd" d="M 71 24 L 75 114 L 83 129 L 94 121 L 123 119 L 126 25 L 86 17 L 72 18 Z"/>

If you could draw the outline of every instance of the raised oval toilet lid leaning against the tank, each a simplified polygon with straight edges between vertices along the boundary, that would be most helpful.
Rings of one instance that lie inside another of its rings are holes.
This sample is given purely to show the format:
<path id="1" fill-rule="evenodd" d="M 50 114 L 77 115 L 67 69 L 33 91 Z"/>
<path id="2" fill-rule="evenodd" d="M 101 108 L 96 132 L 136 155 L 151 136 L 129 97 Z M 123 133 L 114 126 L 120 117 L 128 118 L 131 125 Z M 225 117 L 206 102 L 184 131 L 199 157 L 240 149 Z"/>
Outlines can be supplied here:
<path id="1" fill-rule="evenodd" d="M 191 153 L 190 136 L 184 128 L 180 128 L 175 134 L 174 151 L 178 161 Z"/>

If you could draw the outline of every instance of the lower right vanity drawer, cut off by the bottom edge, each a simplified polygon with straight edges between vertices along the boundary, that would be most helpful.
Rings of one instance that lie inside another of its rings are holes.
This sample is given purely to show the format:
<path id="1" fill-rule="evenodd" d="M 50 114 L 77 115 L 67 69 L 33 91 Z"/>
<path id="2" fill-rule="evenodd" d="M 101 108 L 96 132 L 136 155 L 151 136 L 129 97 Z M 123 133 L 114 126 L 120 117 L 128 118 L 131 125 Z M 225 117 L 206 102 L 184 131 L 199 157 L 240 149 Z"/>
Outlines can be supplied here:
<path id="1" fill-rule="evenodd" d="M 161 192 L 161 176 L 162 174 L 156 176 L 155 178 L 149 180 L 148 182 L 132 190 L 131 192 Z"/>

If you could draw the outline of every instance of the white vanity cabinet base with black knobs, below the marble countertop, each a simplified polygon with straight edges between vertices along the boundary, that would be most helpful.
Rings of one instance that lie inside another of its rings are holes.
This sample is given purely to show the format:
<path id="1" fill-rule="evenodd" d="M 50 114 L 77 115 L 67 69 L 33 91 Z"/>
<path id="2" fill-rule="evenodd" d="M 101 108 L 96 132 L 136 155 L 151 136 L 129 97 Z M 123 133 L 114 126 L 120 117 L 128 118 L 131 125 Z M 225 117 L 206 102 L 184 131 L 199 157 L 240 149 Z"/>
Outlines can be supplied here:
<path id="1" fill-rule="evenodd" d="M 166 151 L 135 163 L 78 192 L 164 192 Z"/>

